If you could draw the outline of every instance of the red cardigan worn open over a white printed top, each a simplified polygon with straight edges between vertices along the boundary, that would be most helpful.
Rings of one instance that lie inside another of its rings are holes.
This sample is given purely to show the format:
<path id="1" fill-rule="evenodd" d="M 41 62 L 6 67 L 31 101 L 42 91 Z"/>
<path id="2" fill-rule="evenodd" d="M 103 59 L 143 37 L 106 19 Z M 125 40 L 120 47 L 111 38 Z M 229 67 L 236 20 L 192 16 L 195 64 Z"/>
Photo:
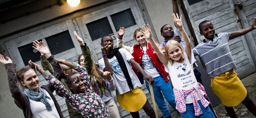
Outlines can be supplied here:
<path id="1" fill-rule="evenodd" d="M 169 81 L 168 72 L 166 72 L 164 70 L 164 66 L 162 63 L 160 63 L 157 53 L 155 53 L 155 52 L 153 53 L 153 51 L 154 51 L 154 49 L 151 47 L 150 43 L 147 43 L 146 52 L 147 52 L 149 58 L 151 59 L 152 63 L 155 65 L 158 73 L 163 77 L 163 80 L 165 82 L 168 82 Z M 139 65 L 141 64 L 143 52 L 144 51 L 142 50 L 142 47 L 139 44 L 133 46 L 132 56 L 134 57 L 134 60 L 137 63 L 139 63 Z M 139 80 L 143 80 L 143 76 L 139 76 L 139 71 L 137 69 L 135 69 L 134 67 L 132 67 L 132 69 L 135 72 L 135 74 L 138 76 Z M 143 83 L 144 82 L 142 81 L 141 84 L 143 84 Z"/>

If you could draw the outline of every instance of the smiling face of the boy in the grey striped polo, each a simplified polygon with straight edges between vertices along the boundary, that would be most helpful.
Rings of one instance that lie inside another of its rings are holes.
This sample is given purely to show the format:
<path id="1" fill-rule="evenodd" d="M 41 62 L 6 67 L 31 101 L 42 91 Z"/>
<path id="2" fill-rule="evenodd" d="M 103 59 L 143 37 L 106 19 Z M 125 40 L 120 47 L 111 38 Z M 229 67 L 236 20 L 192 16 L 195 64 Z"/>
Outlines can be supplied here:
<path id="1" fill-rule="evenodd" d="M 211 22 L 205 22 L 200 25 L 200 34 L 206 39 L 213 40 L 215 35 L 215 30 Z"/>

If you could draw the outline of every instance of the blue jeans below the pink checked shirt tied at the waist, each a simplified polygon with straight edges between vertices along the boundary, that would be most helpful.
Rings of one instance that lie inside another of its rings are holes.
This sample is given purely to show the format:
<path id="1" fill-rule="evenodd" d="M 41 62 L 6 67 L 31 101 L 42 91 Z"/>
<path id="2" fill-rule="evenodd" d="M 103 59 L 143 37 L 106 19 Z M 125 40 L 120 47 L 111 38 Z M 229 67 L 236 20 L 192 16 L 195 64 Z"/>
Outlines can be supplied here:
<path id="1" fill-rule="evenodd" d="M 197 118 L 215 118 L 215 116 L 212 113 L 209 106 L 204 108 L 200 100 L 198 100 L 197 102 L 199 103 L 200 108 L 203 111 L 203 114 L 201 114 L 199 116 L 195 116 L 194 105 L 193 105 L 193 103 L 190 103 L 190 104 L 186 104 L 186 112 L 185 113 L 180 112 L 181 118 L 196 118 L 196 117 Z"/>

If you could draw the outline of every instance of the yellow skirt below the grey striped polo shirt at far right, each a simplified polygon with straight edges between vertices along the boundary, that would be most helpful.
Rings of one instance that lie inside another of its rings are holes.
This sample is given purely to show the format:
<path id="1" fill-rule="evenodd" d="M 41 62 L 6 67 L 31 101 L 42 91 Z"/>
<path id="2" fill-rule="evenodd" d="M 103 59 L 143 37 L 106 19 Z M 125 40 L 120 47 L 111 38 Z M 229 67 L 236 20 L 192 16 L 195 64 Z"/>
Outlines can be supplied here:
<path id="1" fill-rule="evenodd" d="M 234 69 L 211 78 L 211 88 L 212 92 L 220 98 L 222 104 L 227 107 L 237 106 L 247 95 L 245 86 Z"/>

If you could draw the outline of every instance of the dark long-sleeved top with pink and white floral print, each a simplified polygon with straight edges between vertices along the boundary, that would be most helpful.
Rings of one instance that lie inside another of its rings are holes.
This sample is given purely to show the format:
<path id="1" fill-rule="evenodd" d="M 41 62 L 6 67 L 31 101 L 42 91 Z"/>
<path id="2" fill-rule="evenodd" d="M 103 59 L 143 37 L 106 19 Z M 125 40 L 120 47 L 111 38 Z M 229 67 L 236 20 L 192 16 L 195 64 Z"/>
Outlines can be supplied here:
<path id="1" fill-rule="evenodd" d="M 75 62 L 70 67 L 79 72 L 86 81 L 84 93 L 72 94 L 49 71 L 45 71 L 42 75 L 69 102 L 72 108 L 76 112 L 81 113 L 85 118 L 110 118 L 107 106 L 93 92 L 87 70 Z"/>

